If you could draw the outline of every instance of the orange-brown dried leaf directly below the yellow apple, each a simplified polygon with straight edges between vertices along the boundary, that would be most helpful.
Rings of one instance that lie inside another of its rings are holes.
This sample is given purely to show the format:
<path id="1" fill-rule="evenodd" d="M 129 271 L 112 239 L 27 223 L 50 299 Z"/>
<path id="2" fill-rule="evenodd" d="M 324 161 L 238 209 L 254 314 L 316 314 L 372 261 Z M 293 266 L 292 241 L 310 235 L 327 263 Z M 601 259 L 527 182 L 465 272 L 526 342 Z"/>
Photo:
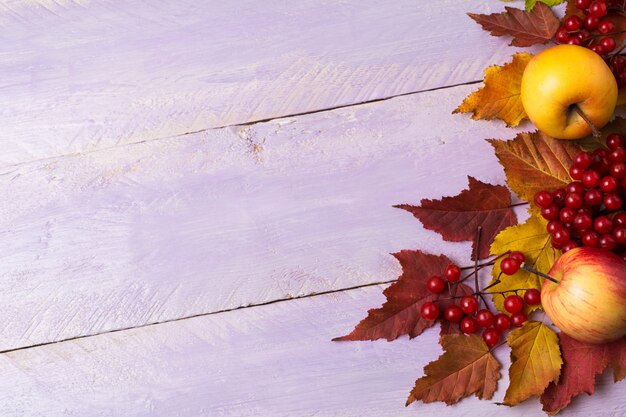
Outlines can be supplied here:
<path id="1" fill-rule="evenodd" d="M 527 201 L 532 201 L 537 191 L 567 185 L 572 158 L 580 151 L 576 142 L 554 139 L 539 131 L 520 133 L 509 141 L 487 141 L 504 167 L 507 184 Z"/>

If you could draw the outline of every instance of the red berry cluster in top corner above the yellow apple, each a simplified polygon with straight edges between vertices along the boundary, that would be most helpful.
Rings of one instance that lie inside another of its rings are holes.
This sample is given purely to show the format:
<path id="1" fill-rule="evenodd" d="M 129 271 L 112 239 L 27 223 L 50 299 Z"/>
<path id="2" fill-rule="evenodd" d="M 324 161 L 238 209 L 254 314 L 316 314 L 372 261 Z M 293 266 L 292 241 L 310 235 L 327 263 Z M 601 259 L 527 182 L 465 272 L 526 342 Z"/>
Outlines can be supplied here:
<path id="1" fill-rule="evenodd" d="M 582 10 L 584 17 L 577 15 L 563 19 L 555 34 L 558 43 L 580 45 L 603 56 L 620 87 L 626 85 L 626 58 L 621 55 L 608 57 L 618 46 L 615 35 L 620 33 L 615 24 L 607 18 L 611 10 L 624 13 L 624 2 L 611 0 L 576 0 L 576 7 Z"/>

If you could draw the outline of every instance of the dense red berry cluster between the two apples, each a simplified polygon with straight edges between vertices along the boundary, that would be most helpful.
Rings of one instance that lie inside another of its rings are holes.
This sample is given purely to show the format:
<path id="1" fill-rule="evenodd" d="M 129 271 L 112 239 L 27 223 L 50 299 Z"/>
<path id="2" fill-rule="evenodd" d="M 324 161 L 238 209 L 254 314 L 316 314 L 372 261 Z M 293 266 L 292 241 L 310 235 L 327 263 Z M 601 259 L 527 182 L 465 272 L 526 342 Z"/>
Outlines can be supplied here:
<path id="1" fill-rule="evenodd" d="M 574 181 L 553 192 L 539 191 L 535 204 L 549 220 L 552 246 L 564 252 L 578 246 L 626 250 L 626 141 L 613 133 L 608 149 L 580 151 L 570 167 Z"/>

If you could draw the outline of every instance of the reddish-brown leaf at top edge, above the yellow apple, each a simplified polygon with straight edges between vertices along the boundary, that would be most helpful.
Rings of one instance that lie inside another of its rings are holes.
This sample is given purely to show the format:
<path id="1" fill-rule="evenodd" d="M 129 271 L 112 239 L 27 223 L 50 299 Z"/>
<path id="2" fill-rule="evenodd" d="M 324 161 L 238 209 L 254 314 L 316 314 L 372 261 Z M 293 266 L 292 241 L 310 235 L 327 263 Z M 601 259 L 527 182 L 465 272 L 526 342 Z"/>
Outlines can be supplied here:
<path id="1" fill-rule="evenodd" d="M 511 46 L 548 43 L 559 28 L 559 19 L 543 3 L 537 3 L 529 12 L 514 7 L 505 7 L 505 10 L 489 15 L 468 15 L 494 36 L 513 36 Z"/>

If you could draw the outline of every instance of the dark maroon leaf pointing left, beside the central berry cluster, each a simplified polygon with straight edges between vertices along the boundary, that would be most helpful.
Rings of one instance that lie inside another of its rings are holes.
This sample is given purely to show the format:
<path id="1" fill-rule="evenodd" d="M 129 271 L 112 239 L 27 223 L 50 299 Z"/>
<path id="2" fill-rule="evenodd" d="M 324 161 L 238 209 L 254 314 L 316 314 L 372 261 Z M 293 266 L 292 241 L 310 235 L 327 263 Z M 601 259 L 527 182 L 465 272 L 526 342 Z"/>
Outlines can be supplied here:
<path id="1" fill-rule="evenodd" d="M 489 247 L 501 230 L 517 224 L 511 208 L 511 192 L 502 185 L 486 184 L 473 177 L 469 177 L 469 189 L 454 197 L 424 199 L 419 206 L 395 207 L 413 213 L 426 229 L 434 230 L 449 242 L 474 241 L 481 226 L 479 259 L 489 256 Z M 473 248 L 473 254 L 476 249 Z"/>

